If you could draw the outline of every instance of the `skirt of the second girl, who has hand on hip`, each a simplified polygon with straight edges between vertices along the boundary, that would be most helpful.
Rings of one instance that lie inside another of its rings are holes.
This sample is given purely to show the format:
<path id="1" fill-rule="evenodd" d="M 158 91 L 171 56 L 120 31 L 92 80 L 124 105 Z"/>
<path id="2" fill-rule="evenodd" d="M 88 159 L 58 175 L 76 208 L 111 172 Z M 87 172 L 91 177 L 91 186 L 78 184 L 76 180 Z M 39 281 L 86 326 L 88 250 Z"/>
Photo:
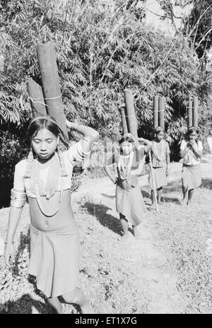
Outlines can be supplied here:
<path id="1" fill-rule="evenodd" d="M 117 211 L 125 216 L 132 225 L 139 225 L 146 213 L 143 195 L 139 183 L 131 189 L 122 189 L 117 185 L 116 189 Z"/>

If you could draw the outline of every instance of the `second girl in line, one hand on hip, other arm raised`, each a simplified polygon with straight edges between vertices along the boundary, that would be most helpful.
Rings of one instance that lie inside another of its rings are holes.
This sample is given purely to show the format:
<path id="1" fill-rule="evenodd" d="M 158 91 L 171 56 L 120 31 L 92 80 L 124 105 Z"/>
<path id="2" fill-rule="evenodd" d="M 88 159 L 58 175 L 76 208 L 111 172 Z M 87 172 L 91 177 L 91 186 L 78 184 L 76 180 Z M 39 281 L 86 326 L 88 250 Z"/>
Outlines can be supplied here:
<path id="1" fill-rule="evenodd" d="M 146 146 L 135 147 L 132 134 L 126 133 L 119 141 L 119 153 L 106 160 L 105 171 L 116 187 L 116 207 L 122 224 L 122 238 L 129 237 L 128 224 L 131 223 L 134 236 L 140 238 L 139 224 L 146 212 L 141 187 L 136 176 L 143 156 L 151 149 L 151 141 L 140 138 Z M 112 172 L 112 167 L 115 173 Z"/>

